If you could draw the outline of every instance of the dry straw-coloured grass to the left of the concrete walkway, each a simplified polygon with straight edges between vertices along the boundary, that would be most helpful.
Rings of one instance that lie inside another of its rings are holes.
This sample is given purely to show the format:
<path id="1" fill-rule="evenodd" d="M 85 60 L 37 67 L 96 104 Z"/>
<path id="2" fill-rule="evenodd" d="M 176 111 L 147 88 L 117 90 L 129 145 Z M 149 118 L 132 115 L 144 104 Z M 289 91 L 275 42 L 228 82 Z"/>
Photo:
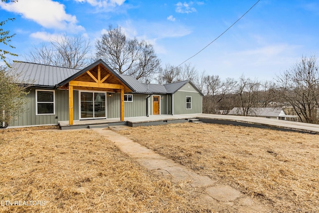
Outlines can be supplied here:
<path id="1" fill-rule="evenodd" d="M 4 130 L 0 150 L 0 201 L 45 202 L 2 213 L 208 212 L 90 130 Z"/>

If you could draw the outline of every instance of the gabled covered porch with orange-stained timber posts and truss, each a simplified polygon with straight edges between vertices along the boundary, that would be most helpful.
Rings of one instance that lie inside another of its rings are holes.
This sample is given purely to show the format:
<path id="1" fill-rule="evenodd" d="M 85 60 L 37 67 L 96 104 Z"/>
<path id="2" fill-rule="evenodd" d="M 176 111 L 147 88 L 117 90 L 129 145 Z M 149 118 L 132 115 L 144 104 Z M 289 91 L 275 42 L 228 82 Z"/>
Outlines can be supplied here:
<path id="1" fill-rule="evenodd" d="M 67 78 L 58 85 L 58 89 L 68 90 L 68 125 L 74 125 L 74 107 L 79 107 L 79 122 L 82 122 L 81 119 L 107 118 L 105 96 L 112 93 L 120 94 L 120 121 L 124 121 L 124 93 L 132 92 L 129 85 L 123 82 L 123 79 L 102 60 Z M 74 106 L 74 90 L 78 90 L 80 94 L 79 106 Z M 88 96 L 90 99 L 87 98 Z M 97 101 L 97 98 L 100 100 Z M 95 120 L 92 122 L 94 123 Z"/>

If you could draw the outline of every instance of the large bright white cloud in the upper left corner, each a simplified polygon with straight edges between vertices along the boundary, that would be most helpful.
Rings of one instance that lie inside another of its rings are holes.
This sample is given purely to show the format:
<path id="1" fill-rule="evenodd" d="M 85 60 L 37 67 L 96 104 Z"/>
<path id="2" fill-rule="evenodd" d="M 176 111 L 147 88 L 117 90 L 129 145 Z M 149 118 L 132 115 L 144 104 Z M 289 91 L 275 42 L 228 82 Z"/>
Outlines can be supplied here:
<path id="1" fill-rule="evenodd" d="M 64 4 L 52 0 L 19 0 L 15 3 L 0 3 L 2 9 L 19 13 L 45 28 L 78 32 L 84 30 L 77 25 L 75 15 L 65 12 Z"/>

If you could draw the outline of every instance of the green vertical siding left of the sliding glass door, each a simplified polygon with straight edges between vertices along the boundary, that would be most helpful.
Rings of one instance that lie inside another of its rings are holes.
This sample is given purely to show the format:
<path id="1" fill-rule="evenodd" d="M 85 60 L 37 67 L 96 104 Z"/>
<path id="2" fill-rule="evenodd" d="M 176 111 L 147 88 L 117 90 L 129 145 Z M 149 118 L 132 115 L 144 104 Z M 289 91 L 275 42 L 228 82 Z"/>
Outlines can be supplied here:
<path id="1" fill-rule="evenodd" d="M 15 117 L 10 122 L 9 126 L 31 126 L 31 125 L 46 125 L 57 124 L 58 121 L 69 120 L 69 94 L 67 90 L 55 91 L 55 115 L 36 115 L 35 112 L 35 89 L 27 94 L 27 104 L 24 106 L 24 111 L 19 117 Z M 78 91 L 73 91 L 74 106 L 79 105 Z M 79 119 L 79 109 L 74 107 L 74 120 Z M 57 117 L 57 118 L 56 118 Z"/>

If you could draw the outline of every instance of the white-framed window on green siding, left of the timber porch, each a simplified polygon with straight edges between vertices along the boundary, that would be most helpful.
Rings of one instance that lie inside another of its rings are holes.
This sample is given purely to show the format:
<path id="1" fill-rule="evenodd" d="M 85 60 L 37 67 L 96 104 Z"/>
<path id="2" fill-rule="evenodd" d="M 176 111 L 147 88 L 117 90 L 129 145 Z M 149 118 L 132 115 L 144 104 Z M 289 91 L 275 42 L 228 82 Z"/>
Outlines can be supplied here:
<path id="1" fill-rule="evenodd" d="M 54 90 L 35 90 L 35 114 L 55 114 L 55 93 Z"/>

